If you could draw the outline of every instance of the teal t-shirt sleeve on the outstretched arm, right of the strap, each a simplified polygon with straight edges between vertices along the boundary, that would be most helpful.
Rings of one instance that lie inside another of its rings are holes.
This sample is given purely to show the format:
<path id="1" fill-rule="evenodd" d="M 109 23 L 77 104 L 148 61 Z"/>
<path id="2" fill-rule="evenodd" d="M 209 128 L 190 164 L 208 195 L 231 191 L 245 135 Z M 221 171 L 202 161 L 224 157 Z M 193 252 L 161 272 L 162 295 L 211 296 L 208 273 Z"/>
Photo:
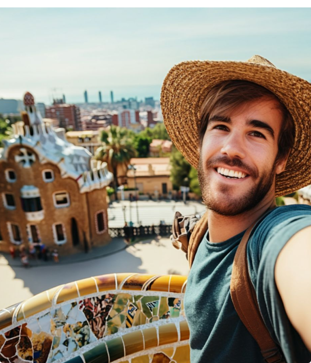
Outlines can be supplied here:
<path id="1" fill-rule="evenodd" d="M 259 223 L 247 245 L 250 278 L 264 323 L 271 337 L 281 346 L 287 363 L 310 363 L 311 353 L 287 318 L 275 283 L 274 267 L 287 241 L 309 225 L 311 206 L 278 207 Z"/>

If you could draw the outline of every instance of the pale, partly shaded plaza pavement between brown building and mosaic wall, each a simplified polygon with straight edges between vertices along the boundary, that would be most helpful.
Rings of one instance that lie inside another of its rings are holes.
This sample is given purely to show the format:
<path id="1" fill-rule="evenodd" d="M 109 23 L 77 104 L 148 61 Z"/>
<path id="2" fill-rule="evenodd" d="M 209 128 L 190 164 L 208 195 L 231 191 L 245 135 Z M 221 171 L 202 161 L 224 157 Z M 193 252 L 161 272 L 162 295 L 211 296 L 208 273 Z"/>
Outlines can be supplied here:
<path id="1" fill-rule="evenodd" d="M 19 303 L 51 287 L 110 273 L 181 274 L 189 272 L 184 252 L 168 238 L 148 239 L 127 246 L 122 239 L 88 254 L 60 256 L 60 263 L 36 263 L 24 268 L 19 260 L 0 254 L 0 308 Z"/>

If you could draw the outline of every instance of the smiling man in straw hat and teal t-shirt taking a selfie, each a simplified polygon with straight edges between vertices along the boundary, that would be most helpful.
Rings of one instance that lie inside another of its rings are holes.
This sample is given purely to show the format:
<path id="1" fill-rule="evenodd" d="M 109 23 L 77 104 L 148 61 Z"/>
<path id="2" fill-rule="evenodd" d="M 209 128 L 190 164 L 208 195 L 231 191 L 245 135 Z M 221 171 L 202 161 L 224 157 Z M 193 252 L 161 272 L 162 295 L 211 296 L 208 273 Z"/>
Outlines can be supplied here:
<path id="1" fill-rule="evenodd" d="M 168 72 L 161 108 L 207 206 L 185 294 L 191 363 L 264 362 L 230 295 L 235 252 L 256 221 L 247 260 L 264 324 L 284 361 L 310 363 L 311 207 L 271 207 L 311 184 L 311 84 L 261 56 L 187 61 Z"/>

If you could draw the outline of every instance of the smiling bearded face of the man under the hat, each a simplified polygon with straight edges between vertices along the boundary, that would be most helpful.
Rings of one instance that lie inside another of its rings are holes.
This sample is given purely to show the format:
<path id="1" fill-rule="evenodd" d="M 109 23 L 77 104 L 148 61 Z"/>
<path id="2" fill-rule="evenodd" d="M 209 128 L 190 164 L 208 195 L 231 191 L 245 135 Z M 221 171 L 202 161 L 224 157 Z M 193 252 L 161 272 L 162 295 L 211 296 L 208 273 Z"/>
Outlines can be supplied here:
<path id="1" fill-rule="evenodd" d="M 230 114 L 212 114 L 200 149 L 198 180 L 204 204 L 235 216 L 274 196 L 282 113 L 277 101 L 260 98 Z"/>

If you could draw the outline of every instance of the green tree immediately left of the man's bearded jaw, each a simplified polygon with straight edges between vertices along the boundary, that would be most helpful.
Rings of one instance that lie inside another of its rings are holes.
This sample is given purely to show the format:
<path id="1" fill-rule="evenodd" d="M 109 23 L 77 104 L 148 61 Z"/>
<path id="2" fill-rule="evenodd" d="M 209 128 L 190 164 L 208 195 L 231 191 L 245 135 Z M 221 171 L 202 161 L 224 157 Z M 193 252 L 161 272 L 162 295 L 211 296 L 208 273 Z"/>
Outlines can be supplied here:
<path id="1" fill-rule="evenodd" d="M 170 181 L 174 190 L 179 190 L 181 186 L 189 186 L 189 172 L 191 165 L 184 156 L 173 146 L 169 159 L 171 165 Z"/>

